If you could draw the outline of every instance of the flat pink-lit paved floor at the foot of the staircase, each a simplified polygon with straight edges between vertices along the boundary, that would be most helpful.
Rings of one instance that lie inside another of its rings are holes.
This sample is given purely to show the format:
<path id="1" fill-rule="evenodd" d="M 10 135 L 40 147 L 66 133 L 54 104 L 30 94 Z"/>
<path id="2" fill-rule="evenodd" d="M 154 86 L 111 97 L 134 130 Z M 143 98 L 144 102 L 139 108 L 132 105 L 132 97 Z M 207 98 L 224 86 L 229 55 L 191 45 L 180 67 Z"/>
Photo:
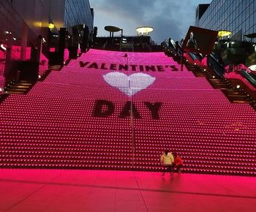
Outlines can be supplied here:
<path id="1" fill-rule="evenodd" d="M 0 211 L 255 212 L 256 178 L 111 170 L 0 170 Z"/>

